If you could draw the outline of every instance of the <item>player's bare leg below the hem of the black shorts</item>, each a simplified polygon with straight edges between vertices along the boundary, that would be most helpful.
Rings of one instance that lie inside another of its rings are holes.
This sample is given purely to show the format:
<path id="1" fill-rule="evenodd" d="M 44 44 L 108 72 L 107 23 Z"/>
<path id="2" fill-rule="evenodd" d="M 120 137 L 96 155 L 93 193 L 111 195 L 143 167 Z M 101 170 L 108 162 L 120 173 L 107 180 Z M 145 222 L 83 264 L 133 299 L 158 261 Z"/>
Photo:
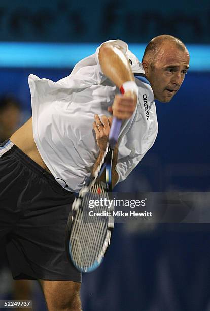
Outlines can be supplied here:
<path id="1" fill-rule="evenodd" d="M 81 311 L 80 282 L 39 280 L 49 311 Z"/>

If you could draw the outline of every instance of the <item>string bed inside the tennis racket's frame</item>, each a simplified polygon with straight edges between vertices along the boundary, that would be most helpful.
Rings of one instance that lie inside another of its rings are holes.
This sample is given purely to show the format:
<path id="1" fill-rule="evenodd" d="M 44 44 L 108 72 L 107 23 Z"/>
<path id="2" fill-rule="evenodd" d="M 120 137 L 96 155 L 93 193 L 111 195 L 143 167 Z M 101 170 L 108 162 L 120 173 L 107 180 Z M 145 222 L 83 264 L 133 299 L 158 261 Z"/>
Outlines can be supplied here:
<path id="1" fill-rule="evenodd" d="M 89 267 L 94 264 L 103 248 L 108 218 L 103 216 L 89 216 L 89 201 L 108 198 L 106 191 L 101 185 L 94 185 L 83 198 L 83 208 L 76 213 L 74 227 L 70 235 L 71 255 L 77 267 Z M 100 204 L 95 206 L 93 212 L 101 213 L 108 211 L 108 206 Z M 83 253 L 82 253 L 83 250 Z"/>

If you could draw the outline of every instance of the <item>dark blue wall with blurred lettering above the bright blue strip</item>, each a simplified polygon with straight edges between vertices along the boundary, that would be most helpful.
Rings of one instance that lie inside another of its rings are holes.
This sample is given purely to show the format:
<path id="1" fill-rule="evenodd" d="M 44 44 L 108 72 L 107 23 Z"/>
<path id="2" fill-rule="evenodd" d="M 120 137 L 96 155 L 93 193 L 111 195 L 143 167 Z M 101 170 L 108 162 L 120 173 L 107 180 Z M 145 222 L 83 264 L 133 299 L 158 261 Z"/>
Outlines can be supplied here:
<path id="1" fill-rule="evenodd" d="M 148 42 L 173 34 L 184 42 L 209 43 L 208 0 L 128 0 L 29 2 L 0 4 L 0 40 L 100 42 L 122 38 Z"/>

